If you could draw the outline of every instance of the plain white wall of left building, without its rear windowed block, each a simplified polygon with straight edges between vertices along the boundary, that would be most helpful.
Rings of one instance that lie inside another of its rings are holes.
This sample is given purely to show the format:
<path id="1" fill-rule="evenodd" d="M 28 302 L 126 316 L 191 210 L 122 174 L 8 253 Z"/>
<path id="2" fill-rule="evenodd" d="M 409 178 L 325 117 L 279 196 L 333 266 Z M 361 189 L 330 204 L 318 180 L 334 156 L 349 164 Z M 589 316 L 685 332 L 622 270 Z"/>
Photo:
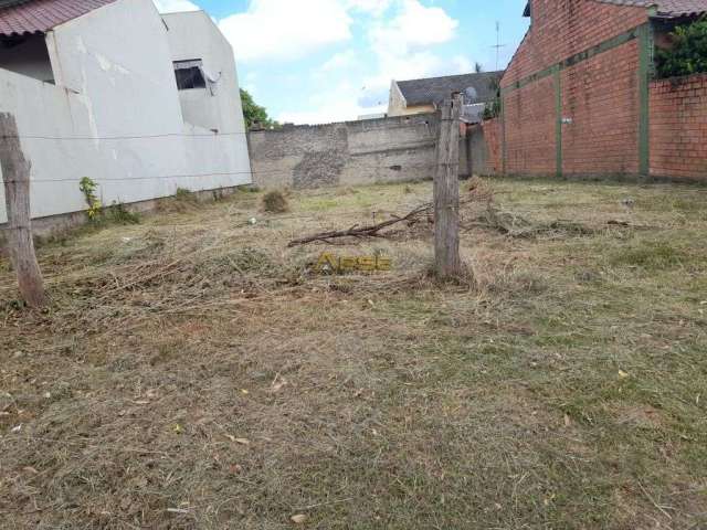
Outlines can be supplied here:
<path id="1" fill-rule="evenodd" d="M 34 219 L 85 210 L 83 177 L 98 183 L 104 204 L 251 182 L 244 131 L 184 121 L 151 0 L 116 1 L 55 28 L 46 42 L 56 86 L 0 70 L 0 112 L 15 116 L 32 163 Z M 238 85 L 232 97 L 240 99 Z M 4 209 L 0 187 L 0 223 Z"/>

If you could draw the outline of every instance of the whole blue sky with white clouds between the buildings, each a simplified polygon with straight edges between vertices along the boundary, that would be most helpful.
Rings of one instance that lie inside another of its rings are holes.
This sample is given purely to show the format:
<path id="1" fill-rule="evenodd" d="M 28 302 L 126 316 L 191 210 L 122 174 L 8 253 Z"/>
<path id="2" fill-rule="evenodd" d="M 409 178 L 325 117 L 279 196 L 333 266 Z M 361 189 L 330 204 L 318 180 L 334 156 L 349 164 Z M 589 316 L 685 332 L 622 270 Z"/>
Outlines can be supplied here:
<path id="1" fill-rule="evenodd" d="M 526 0 L 155 0 L 205 10 L 235 52 L 241 86 L 279 121 L 327 123 L 384 112 L 391 80 L 508 63 Z"/>

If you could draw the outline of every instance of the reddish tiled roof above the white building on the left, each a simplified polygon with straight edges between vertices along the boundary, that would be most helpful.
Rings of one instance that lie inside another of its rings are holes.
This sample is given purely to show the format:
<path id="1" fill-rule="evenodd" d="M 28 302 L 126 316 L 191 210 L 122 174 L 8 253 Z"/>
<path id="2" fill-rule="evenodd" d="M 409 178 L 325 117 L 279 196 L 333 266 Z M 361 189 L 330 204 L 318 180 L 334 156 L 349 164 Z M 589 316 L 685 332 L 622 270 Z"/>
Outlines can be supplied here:
<path id="1" fill-rule="evenodd" d="M 46 33 L 116 0 L 0 0 L 0 36 Z"/>

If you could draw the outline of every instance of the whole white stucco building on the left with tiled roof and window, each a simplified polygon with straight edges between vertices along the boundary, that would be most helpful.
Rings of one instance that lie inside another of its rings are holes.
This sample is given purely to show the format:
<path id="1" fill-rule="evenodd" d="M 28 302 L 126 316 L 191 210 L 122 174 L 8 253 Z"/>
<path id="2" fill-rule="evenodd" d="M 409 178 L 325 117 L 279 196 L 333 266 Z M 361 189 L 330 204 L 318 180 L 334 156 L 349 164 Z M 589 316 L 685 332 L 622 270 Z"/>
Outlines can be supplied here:
<path id="1" fill-rule="evenodd" d="M 233 51 L 151 0 L 0 0 L 0 112 L 32 163 L 32 216 L 250 183 Z M 0 222 L 7 221 L 0 187 Z"/>

